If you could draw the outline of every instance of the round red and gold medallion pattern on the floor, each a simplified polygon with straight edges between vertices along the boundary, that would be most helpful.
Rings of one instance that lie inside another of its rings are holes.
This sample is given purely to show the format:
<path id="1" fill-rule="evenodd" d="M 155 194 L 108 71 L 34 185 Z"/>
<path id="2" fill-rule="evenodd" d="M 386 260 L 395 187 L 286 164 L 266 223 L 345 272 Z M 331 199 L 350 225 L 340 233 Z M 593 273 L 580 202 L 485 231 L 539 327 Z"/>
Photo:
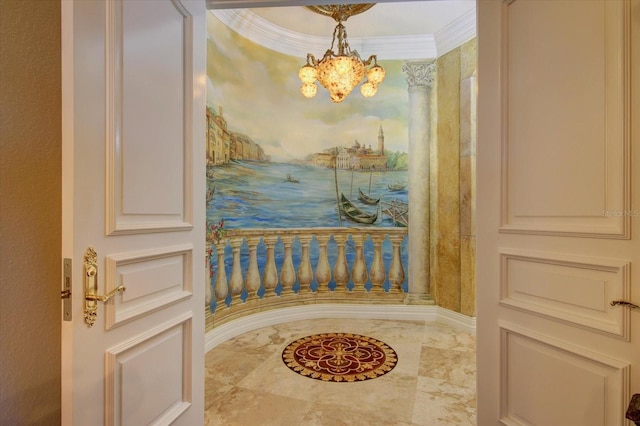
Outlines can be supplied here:
<path id="1" fill-rule="evenodd" d="M 323 333 L 290 343 L 282 360 L 289 369 L 312 379 L 359 382 L 388 373 L 398 357 L 389 345 L 371 337 Z"/>

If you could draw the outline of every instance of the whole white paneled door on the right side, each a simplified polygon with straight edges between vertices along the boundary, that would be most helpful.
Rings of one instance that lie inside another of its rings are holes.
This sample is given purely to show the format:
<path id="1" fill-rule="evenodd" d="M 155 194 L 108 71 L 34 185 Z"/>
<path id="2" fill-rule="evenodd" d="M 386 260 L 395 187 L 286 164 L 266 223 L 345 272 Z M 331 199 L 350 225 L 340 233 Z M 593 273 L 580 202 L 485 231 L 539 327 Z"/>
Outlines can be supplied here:
<path id="1" fill-rule="evenodd" d="M 640 1 L 478 2 L 478 424 L 631 425 Z"/>

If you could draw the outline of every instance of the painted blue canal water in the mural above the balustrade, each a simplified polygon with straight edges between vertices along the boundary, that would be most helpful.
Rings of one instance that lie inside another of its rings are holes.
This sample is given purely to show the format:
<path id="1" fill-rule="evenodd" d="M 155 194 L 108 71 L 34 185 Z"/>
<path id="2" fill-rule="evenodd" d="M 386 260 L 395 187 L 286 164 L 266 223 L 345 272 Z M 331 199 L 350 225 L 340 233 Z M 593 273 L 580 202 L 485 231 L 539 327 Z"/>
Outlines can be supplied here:
<path id="1" fill-rule="evenodd" d="M 384 214 L 385 206 L 408 204 L 406 170 L 364 172 L 259 161 L 232 161 L 208 170 L 208 222 L 224 219 L 228 229 L 363 226 L 344 214 L 339 217 L 339 193 L 364 212 L 378 212 L 371 226 L 396 226 Z M 360 191 L 379 202 L 360 200 Z"/>

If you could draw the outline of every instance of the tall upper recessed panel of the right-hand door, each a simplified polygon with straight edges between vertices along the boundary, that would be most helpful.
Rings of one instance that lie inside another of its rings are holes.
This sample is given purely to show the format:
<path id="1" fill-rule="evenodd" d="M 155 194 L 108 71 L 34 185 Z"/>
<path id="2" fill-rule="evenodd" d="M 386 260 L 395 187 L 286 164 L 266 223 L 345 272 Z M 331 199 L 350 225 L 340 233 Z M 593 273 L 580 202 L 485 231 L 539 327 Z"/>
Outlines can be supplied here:
<path id="1" fill-rule="evenodd" d="M 537 3 L 502 7 L 502 229 L 628 238 L 630 10 Z"/>

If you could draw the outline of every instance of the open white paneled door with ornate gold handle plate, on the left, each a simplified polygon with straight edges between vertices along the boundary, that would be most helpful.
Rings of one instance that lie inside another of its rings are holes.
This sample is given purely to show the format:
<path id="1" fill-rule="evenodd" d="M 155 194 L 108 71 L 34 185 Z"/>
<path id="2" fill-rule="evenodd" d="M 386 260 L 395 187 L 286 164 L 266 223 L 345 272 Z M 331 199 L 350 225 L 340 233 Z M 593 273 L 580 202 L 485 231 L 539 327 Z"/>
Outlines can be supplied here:
<path id="1" fill-rule="evenodd" d="M 204 1 L 63 0 L 62 31 L 62 423 L 202 424 Z"/>

